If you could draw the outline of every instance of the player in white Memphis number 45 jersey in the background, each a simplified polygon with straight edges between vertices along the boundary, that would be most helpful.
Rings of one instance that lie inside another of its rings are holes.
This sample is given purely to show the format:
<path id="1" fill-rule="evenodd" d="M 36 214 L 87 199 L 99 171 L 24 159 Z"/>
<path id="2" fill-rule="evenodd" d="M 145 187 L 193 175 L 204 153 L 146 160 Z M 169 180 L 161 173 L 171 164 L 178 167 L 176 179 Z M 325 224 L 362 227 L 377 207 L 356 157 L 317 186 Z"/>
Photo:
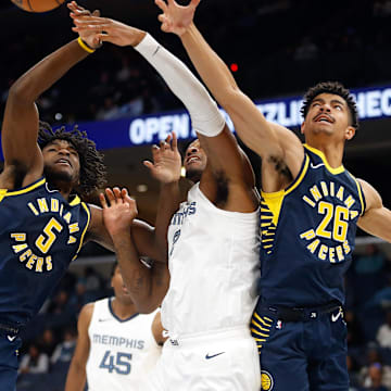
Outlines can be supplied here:
<path id="1" fill-rule="evenodd" d="M 165 338 L 160 312 L 138 314 L 113 266 L 114 297 L 86 304 L 77 323 L 78 339 L 65 391 L 138 390 L 154 367 Z"/>

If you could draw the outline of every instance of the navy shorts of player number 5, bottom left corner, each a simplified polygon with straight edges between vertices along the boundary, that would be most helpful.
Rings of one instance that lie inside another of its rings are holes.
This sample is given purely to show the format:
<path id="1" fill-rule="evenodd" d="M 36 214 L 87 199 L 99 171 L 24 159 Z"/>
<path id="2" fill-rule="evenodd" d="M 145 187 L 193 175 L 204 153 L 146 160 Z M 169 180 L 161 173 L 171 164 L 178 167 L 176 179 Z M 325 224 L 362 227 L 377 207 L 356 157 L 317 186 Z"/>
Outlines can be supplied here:
<path id="1" fill-rule="evenodd" d="M 0 390 L 15 391 L 18 350 L 22 340 L 16 335 L 0 330 Z"/>

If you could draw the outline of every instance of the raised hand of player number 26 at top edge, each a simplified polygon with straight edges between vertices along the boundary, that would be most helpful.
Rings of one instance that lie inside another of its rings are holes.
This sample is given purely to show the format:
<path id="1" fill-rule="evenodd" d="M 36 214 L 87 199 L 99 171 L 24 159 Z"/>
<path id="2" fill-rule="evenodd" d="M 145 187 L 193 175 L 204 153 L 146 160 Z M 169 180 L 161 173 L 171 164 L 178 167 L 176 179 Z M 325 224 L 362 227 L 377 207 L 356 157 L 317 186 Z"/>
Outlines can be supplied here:
<path id="1" fill-rule="evenodd" d="M 191 25 L 197 5 L 201 0 L 191 0 L 186 7 L 179 5 L 175 0 L 155 0 L 156 5 L 163 11 L 159 15 L 162 22 L 162 30 L 165 33 L 174 33 L 177 36 L 184 35 Z"/>

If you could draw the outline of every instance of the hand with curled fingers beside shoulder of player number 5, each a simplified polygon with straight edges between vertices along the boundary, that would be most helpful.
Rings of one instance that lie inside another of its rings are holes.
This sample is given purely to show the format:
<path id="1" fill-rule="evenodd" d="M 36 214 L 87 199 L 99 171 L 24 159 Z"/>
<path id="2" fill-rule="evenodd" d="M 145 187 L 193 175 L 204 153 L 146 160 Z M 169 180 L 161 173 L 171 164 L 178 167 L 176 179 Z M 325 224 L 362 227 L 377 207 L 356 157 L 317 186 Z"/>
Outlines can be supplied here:
<path id="1" fill-rule="evenodd" d="M 115 187 L 105 189 L 99 194 L 103 207 L 103 222 L 111 237 L 122 231 L 129 231 L 131 222 L 137 216 L 136 201 L 129 197 L 127 189 Z"/>

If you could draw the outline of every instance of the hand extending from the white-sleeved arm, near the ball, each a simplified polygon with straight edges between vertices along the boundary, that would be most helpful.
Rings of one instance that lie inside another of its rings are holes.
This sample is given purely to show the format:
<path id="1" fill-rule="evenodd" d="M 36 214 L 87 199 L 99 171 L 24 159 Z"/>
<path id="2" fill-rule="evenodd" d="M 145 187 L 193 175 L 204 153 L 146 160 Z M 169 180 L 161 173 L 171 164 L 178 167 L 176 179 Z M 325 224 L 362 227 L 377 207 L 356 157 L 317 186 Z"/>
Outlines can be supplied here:
<path id="1" fill-rule="evenodd" d="M 146 36 L 146 31 L 128 26 L 109 17 L 99 17 L 99 14 L 86 12 L 81 7 L 68 4 L 71 17 L 75 27 L 72 29 L 81 35 L 93 36 L 99 42 L 111 42 L 117 46 L 137 46 Z"/>

